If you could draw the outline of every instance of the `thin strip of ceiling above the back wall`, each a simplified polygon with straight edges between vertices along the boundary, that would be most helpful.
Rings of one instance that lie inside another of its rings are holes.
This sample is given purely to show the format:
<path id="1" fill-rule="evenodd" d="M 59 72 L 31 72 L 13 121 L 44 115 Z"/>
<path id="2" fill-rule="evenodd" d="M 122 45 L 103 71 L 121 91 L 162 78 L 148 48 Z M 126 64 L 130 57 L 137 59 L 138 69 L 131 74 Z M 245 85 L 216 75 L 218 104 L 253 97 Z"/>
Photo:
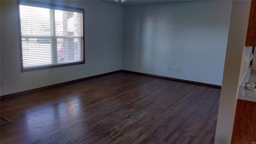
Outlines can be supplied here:
<path id="1" fill-rule="evenodd" d="M 109 2 L 112 4 L 119 4 L 114 0 L 102 0 L 104 2 Z M 168 3 L 178 3 L 178 2 L 196 2 L 202 0 L 126 0 L 121 2 L 122 6 L 133 6 L 133 5 L 142 5 L 142 4 L 168 4 Z"/>

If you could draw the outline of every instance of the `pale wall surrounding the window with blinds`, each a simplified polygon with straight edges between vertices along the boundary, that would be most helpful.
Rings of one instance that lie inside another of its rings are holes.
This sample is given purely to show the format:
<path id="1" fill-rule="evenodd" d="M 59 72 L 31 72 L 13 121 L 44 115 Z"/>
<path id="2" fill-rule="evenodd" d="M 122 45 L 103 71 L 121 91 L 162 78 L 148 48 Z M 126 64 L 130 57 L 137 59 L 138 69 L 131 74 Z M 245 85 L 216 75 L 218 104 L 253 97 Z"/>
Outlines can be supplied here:
<path id="1" fill-rule="evenodd" d="M 123 6 L 102 1 L 56 1 L 85 10 L 85 64 L 20 72 L 17 4 L 0 2 L 1 96 L 122 69 Z"/>

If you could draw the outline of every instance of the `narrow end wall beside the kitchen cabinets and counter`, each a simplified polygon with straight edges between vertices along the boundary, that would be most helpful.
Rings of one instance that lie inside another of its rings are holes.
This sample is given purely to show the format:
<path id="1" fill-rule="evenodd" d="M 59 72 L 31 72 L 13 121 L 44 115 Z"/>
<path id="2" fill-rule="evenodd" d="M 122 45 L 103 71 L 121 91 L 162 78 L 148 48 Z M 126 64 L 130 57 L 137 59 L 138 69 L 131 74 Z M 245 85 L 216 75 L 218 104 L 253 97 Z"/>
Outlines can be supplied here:
<path id="1" fill-rule="evenodd" d="M 250 1 L 234 0 L 230 18 L 228 44 L 214 144 L 230 144 L 238 88 L 242 77 L 245 38 L 248 25 Z"/>

